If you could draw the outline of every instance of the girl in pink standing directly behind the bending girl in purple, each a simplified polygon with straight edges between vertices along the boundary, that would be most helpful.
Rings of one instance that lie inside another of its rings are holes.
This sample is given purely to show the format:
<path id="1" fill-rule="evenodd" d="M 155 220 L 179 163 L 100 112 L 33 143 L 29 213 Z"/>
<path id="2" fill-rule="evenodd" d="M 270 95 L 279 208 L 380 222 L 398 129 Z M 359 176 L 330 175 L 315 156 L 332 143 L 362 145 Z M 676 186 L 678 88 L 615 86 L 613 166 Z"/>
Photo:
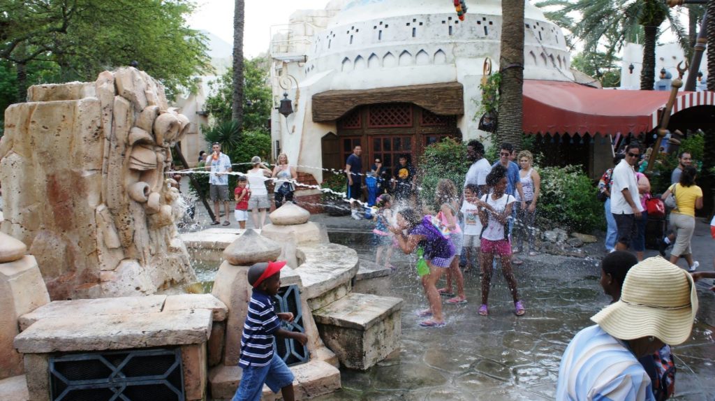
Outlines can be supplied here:
<path id="1" fill-rule="evenodd" d="M 437 183 L 435 193 L 435 203 L 440 205 L 440 212 L 437 218 L 440 223 L 449 230 L 450 241 L 454 245 L 455 258 L 447 271 L 447 285 L 439 289 L 441 295 L 452 292 L 452 279 L 457 282 L 457 296 L 447 299 L 450 304 L 465 304 L 467 297 L 464 294 L 464 277 L 459 269 L 459 256 L 462 254 L 462 229 L 457 222 L 458 200 L 457 187 L 451 179 L 440 179 Z"/>

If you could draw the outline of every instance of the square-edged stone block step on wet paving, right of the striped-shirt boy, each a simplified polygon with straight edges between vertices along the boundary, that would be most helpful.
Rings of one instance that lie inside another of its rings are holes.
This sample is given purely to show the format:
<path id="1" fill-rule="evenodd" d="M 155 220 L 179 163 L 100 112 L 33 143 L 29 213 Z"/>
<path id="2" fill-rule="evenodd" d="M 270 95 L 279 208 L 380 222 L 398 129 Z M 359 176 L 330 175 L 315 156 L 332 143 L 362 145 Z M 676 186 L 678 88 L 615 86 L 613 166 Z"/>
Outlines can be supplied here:
<path id="1" fill-rule="evenodd" d="M 340 363 L 366 370 L 400 348 L 403 299 L 352 292 L 312 315 Z"/>

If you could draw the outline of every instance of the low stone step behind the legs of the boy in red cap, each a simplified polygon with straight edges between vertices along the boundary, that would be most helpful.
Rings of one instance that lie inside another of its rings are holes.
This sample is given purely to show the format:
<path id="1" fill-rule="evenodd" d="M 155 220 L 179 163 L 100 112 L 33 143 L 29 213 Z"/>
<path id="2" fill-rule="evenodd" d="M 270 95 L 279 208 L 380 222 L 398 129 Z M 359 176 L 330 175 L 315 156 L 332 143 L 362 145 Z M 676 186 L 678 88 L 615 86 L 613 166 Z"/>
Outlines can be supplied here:
<path id="1" fill-rule="evenodd" d="M 340 389 L 340 370 L 322 360 L 311 360 L 290 367 L 295 375 L 293 389 L 296 400 L 307 400 Z M 241 382 L 242 369 L 238 366 L 220 365 L 209 372 L 212 400 L 231 400 Z M 261 400 L 280 399 L 268 386 L 263 386 Z"/>

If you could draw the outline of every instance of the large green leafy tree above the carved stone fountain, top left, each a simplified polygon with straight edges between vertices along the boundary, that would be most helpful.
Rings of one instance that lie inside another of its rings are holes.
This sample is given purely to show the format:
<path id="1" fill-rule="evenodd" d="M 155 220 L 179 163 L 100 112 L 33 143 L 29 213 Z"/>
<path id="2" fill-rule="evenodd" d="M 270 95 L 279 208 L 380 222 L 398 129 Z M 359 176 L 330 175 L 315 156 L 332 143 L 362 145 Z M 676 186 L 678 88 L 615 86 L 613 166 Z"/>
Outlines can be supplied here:
<path id="1" fill-rule="evenodd" d="M 204 36 L 187 26 L 193 9 L 190 0 L 0 0 L 0 60 L 17 101 L 44 63 L 59 69 L 51 81 L 92 81 L 137 61 L 171 96 L 209 68 Z"/>

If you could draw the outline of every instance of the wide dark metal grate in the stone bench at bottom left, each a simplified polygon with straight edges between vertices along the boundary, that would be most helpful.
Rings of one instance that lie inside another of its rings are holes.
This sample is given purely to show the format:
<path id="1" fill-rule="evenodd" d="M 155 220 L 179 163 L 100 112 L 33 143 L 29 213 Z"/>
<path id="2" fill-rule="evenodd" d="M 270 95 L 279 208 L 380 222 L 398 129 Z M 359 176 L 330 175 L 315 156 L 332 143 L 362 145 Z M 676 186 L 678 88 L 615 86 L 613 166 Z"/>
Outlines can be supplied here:
<path id="1" fill-rule="evenodd" d="M 49 375 L 52 401 L 184 400 L 178 348 L 54 356 Z"/>

